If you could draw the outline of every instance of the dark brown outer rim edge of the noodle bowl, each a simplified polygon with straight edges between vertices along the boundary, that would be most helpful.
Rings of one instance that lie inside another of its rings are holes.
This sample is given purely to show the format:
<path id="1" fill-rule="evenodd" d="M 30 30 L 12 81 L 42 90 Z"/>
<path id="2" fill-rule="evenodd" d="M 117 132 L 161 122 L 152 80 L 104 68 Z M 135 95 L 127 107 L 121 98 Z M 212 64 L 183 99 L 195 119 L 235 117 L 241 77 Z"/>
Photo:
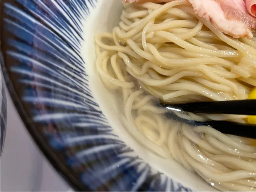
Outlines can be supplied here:
<path id="1" fill-rule="evenodd" d="M 3 81 L 6 85 L 5 88 L 8 90 L 8 92 L 10 94 L 10 98 L 18 112 L 18 115 L 20 116 L 22 122 L 24 123 L 26 130 L 28 130 L 30 137 L 32 138 L 32 140 L 34 140 L 34 143 L 36 144 L 36 146 L 38 146 L 40 151 L 44 154 L 44 156 L 50 162 L 50 164 L 52 164 L 52 166 L 55 168 L 55 170 L 58 173 L 60 173 L 62 178 L 64 178 L 64 180 L 72 187 L 72 189 L 76 189 L 79 191 L 91 191 L 87 185 L 85 185 L 85 184 L 82 185 L 80 182 L 78 182 L 78 180 L 76 180 L 76 178 L 74 178 L 72 176 L 72 172 L 70 172 L 69 169 L 67 169 L 65 166 L 66 163 L 63 162 L 62 160 L 60 160 L 58 158 L 58 156 L 56 156 L 56 152 L 58 152 L 58 151 L 54 150 L 50 146 L 50 144 L 48 144 L 47 142 L 45 142 L 42 139 L 42 136 L 35 128 L 34 123 L 30 120 L 26 110 L 24 109 L 24 107 L 22 105 L 20 98 L 18 97 L 18 95 L 15 91 L 14 84 L 10 78 L 10 74 L 5 65 L 6 64 L 6 50 L 4 49 L 5 41 L 4 41 L 4 37 L 2 34 L 3 34 L 3 30 L 4 30 L 4 22 L 3 22 L 4 4 L 6 2 L 11 3 L 12 1 L 10 1 L 10 0 L 0 1 L 0 52 L 2 53 L 2 54 L 0 54 L 0 57 L 1 57 L 1 60 L 3 61 L 3 62 L 0 62 L 0 66 L 2 68 Z"/>

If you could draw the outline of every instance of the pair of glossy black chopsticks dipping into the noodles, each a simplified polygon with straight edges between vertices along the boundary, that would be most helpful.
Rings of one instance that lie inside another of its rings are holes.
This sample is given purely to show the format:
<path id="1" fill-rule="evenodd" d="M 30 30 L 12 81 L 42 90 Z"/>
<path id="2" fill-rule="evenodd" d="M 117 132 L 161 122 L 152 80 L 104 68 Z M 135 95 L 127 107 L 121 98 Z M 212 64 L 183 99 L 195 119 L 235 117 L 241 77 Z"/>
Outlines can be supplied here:
<path id="1" fill-rule="evenodd" d="M 180 118 L 173 113 L 174 111 L 186 111 L 204 114 L 256 115 L 256 100 L 194 102 L 187 104 L 162 104 L 157 102 L 156 106 L 166 108 L 168 110 L 168 112 L 166 112 L 166 117 L 172 120 L 184 122 L 192 126 L 211 126 L 224 134 L 256 139 L 256 124 L 214 120 L 198 122 Z"/>

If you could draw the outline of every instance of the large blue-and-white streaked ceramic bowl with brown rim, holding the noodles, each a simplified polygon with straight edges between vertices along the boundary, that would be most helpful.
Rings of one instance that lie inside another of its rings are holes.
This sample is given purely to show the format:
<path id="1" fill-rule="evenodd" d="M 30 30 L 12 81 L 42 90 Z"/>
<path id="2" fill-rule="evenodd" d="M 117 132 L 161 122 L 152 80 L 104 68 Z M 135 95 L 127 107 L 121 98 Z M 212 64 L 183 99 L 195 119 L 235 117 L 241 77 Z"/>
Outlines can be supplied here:
<path id="1" fill-rule="evenodd" d="M 2 71 L 28 131 L 74 190 L 214 190 L 136 142 L 95 69 L 121 0 L 2 0 Z"/>

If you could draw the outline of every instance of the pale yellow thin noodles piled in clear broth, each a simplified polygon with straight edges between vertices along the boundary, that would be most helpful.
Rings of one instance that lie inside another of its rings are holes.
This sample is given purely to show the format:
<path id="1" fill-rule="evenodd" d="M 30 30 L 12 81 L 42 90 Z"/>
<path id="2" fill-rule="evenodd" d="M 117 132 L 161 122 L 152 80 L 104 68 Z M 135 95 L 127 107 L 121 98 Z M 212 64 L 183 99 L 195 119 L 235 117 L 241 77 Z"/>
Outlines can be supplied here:
<path id="1" fill-rule="evenodd" d="M 256 86 L 256 38 L 222 34 L 186 0 L 124 4 L 119 26 L 96 36 L 96 55 L 103 82 L 122 95 L 123 122 L 137 141 L 219 190 L 256 191 L 254 141 L 170 120 L 154 105 L 247 99 Z M 197 121 L 247 118 L 175 113 Z"/>

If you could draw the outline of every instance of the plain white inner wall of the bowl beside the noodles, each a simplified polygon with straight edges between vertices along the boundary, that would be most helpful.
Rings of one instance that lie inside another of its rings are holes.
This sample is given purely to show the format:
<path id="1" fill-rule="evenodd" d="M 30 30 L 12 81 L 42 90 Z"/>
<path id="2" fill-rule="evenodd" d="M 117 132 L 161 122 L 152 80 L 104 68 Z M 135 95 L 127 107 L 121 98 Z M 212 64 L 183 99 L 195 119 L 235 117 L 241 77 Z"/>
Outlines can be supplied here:
<path id="1" fill-rule="evenodd" d="M 189 172 L 178 162 L 172 159 L 163 159 L 141 146 L 123 126 L 117 102 L 112 92 L 106 89 L 98 73 L 96 72 L 96 56 L 94 52 L 94 36 L 102 32 L 112 32 L 118 26 L 122 12 L 121 0 L 100 0 L 96 8 L 90 8 L 90 16 L 84 22 L 84 42 L 82 56 L 86 62 L 86 71 L 89 75 L 90 89 L 94 98 L 100 105 L 108 122 L 121 140 L 123 140 L 136 155 L 140 156 L 150 166 L 180 182 L 186 187 L 196 191 L 216 191 L 196 174 Z"/>

